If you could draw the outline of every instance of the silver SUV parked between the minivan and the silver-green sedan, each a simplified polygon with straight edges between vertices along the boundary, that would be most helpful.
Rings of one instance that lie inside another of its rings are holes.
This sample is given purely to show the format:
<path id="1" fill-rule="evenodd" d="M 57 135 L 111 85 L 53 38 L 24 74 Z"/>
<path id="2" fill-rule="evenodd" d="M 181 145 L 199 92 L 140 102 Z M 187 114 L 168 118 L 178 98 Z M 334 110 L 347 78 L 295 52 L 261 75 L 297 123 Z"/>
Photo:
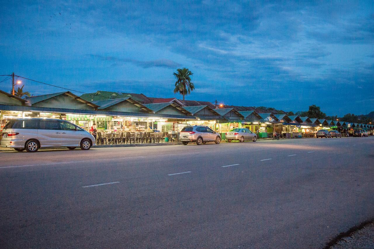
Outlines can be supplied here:
<path id="1" fill-rule="evenodd" d="M 179 138 L 184 145 L 187 145 L 189 142 L 196 142 L 197 145 L 202 145 L 206 142 L 215 142 L 216 144 L 221 142 L 221 135 L 219 133 L 208 126 L 201 125 L 183 127 Z"/>

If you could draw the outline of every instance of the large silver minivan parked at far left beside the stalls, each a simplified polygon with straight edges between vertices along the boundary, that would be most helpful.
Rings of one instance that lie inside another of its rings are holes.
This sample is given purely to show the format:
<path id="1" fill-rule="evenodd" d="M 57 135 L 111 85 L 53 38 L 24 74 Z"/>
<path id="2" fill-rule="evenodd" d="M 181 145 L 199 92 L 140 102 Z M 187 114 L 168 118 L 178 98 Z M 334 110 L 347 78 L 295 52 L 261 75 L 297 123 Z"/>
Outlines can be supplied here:
<path id="1" fill-rule="evenodd" d="M 28 152 L 47 147 L 89 150 L 95 142 L 89 132 L 65 120 L 11 119 L 1 132 L 0 147 Z"/>

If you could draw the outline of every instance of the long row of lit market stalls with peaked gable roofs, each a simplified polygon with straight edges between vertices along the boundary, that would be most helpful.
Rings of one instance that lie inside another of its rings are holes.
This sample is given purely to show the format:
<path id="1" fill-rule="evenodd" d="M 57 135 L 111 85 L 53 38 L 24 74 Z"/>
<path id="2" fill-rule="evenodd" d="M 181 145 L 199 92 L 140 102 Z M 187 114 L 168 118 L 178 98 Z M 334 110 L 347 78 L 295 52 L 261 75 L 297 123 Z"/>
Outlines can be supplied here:
<path id="1" fill-rule="evenodd" d="M 233 128 L 247 128 L 268 138 L 273 131 L 284 138 L 313 137 L 319 129 L 335 129 L 341 133 L 353 133 L 365 129 L 373 134 L 373 125 L 346 123 L 339 120 L 310 119 L 309 117 L 285 114 L 237 111 L 235 108 L 212 109 L 208 105 L 181 106 L 171 101 L 142 104 L 128 97 L 100 101 L 87 101 L 71 92 L 59 92 L 17 98 L 0 90 L 0 132 L 9 119 L 14 118 L 64 119 L 89 130 L 96 123 L 99 131 L 105 132 L 165 132 L 178 139 L 178 134 L 187 125 L 205 125 L 220 133 Z"/>

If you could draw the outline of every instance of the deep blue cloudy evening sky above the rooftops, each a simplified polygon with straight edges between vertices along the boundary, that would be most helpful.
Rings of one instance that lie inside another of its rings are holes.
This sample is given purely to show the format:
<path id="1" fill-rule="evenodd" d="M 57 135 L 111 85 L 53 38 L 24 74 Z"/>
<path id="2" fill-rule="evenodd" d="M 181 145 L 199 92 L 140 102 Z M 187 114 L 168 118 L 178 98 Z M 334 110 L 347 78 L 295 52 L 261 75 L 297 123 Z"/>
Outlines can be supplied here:
<path id="1" fill-rule="evenodd" d="M 181 98 L 173 73 L 186 67 L 196 87 L 186 99 L 374 111 L 373 1 L 272 2 L 3 2 L 0 74 Z M 34 95 L 62 91 L 22 82 Z M 9 92 L 10 80 L 0 89 Z"/>

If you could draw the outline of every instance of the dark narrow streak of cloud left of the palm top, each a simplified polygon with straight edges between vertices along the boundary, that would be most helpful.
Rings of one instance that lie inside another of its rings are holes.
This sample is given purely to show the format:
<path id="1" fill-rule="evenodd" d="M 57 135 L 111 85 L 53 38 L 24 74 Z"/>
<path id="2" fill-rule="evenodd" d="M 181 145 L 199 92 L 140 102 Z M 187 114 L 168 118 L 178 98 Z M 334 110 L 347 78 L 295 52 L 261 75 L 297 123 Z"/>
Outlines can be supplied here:
<path id="1" fill-rule="evenodd" d="M 118 58 L 114 56 L 101 56 L 101 55 L 88 55 L 91 56 L 92 58 L 98 58 L 102 61 L 112 61 L 115 62 L 114 65 L 118 63 L 132 63 L 134 65 L 137 65 L 142 68 L 151 68 L 151 67 L 165 67 L 165 68 L 171 68 L 171 69 L 176 69 L 181 66 L 178 62 L 171 61 L 169 59 L 159 59 L 159 60 L 154 60 L 154 61 L 138 61 L 135 59 L 126 59 L 126 58 Z"/>

